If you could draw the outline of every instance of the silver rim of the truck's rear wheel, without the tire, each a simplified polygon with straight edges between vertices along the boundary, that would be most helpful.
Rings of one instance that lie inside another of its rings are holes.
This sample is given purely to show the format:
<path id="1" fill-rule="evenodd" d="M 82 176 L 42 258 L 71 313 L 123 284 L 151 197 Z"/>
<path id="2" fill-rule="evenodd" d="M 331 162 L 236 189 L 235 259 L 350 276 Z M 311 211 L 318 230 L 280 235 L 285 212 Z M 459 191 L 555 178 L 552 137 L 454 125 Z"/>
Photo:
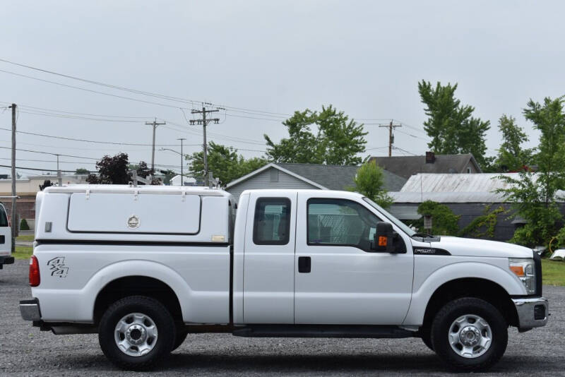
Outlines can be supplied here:
<path id="1" fill-rule="evenodd" d="M 157 343 L 157 325 L 143 313 L 129 313 L 114 330 L 114 340 L 121 352 L 133 357 L 148 354 Z"/>

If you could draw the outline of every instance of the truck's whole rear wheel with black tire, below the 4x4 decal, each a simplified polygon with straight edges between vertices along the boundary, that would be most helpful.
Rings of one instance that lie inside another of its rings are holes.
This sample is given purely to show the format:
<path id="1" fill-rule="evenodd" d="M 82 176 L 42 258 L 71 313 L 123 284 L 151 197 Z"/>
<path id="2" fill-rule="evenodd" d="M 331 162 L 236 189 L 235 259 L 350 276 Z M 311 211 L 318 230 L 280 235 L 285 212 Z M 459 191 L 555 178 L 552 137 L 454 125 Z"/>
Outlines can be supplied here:
<path id="1" fill-rule="evenodd" d="M 122 369 L 150 369 L 165 359 L 175 342 L 174 321 L 165 306 L 150 297 L 114 302 L 100 320 L 100 348 Z"/>

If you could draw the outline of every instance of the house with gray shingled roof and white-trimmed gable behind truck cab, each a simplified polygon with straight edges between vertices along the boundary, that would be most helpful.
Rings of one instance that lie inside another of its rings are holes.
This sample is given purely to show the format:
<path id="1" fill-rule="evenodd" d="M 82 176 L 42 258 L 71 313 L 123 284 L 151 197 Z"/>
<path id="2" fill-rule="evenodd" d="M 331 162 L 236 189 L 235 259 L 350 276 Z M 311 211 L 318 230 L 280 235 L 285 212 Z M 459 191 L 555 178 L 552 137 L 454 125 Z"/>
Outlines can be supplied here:
<path id="1" fill-rule="evenodd" d="M 271 162 L 225 186 L 235 201 L 244 190 L 252 188 L 307 188 L 347 190 L 354 186 L 358 166 L 323 164 L 283 164 Z M 384 186 L 388 191 L 400 191 L 406 179 L 384 171 Z"/>

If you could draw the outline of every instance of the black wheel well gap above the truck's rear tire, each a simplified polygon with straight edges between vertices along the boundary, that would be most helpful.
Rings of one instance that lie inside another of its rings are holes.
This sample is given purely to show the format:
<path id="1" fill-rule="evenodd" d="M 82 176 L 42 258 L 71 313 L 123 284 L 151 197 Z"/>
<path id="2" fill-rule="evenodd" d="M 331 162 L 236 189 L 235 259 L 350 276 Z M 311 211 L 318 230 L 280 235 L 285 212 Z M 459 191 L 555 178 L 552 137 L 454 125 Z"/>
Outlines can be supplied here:
<path id="1" fill-rule="evenodd" d="M 97 295 L 94 304 L 94 323 L 97 325 L 108 307 L 128 296 L 147 296 L 160 301 L 174 321 L 182 322 L 182 310 L 177 294 L 161 280 L 147 276 L 126 276 L 109 282 Z"/>

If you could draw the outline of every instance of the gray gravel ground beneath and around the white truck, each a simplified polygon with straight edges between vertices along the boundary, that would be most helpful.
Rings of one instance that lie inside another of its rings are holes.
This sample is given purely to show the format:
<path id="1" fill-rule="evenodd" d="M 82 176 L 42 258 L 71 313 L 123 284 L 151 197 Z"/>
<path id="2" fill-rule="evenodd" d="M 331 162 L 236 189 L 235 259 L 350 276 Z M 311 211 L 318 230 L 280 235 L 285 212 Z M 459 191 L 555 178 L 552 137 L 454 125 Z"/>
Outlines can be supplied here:
<path id="1" fill-rule="evenodd" d="M 518 334 L 493 376 L 565 376 L 565 287 L 544 287 L 552 316 L 545 328 Z M 0 270 L 0 375 L 141 376 L 105 359 L 97 335 L 53 335 L 20 318 L 18 301 L 30 297 L 28 262 Z M 420 339 L 268 339 L 189 335 L 152 376 L 420 374 L 444 376 L 441 361 Z M 481 373 L 482 374 L 482 373 Z"/>

